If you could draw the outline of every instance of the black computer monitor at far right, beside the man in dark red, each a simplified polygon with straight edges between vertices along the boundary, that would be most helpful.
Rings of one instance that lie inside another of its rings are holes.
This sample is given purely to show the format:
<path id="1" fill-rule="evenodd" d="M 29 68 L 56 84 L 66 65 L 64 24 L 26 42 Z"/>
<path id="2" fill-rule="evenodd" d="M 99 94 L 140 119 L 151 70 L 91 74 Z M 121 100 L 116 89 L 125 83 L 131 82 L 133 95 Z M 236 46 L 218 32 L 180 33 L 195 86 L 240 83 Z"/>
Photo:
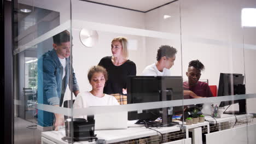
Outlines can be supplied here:
<path id="1" fill-rule="evenodd" d="M 220 73 L 218 97 L 225 95 L 245 94 L 244 76 L 242 74 Z M 239 111 L 228 111 L 225 113 L 242 115 L 246 113 L 246 99 L 222 101 L 219 107 L 231 104 L 239 104 Z"/>

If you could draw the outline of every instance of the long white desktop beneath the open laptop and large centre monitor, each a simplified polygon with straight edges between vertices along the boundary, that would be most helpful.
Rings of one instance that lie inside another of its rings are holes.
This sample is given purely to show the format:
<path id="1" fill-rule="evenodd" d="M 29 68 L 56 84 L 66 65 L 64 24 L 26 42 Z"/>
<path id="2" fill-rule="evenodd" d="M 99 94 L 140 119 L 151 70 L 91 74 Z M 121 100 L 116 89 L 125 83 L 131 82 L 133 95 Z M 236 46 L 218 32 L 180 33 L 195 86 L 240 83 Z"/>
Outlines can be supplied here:
<path id="1" fill-rule="evenodd" d="M 152 128 L 160 131 L 160 133 L 171 133 L 174 131 L 181 130 L 179 126 L 175 125 L 173 127 L 162 127 L 162 128 Z M 106 143 L 120 142 L 132 139 L 138 139 L 141 137 L 158 135 L 154 130 L 147 129 L 145 127 L 130 127 L 127 129 L 120 130 L 95 130 L 98 139 L 106 140 Z M 45 131 L 42 132 L 42 144 L 43 143 L 68 143 L 61 140 L 65 136 L 65 131 Z M 80 141 L 75 143 L 95 143 L 88 141 Z"/>

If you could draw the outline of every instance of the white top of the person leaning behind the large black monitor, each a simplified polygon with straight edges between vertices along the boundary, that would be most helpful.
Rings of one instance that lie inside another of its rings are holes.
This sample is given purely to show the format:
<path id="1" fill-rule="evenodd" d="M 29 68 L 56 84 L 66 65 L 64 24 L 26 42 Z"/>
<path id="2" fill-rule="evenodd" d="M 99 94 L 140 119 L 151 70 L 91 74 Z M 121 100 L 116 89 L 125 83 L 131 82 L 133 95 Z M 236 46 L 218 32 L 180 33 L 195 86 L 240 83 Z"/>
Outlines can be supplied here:
<path id="1" fill-rule="evenodd" d="M 161 71 L 156 68 L 156 64 L 150 64 L 148 65 L 143 71 L 142 76 L 171 76 L 170 69 L 164 68 Z"/>

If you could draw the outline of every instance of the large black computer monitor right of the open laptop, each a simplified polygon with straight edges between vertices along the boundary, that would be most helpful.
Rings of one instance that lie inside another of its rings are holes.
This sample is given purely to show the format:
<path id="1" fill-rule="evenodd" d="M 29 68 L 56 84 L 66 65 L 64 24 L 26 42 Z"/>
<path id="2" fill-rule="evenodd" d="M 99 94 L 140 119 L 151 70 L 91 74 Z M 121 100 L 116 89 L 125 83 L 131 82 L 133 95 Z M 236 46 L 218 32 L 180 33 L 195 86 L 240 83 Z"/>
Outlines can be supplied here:
<path id="1" fill-rule="evenodd" d="M 182 76 L 128 76 L 127 79 L 127 104 L 149 103 L 165 100 L 183 99 Z M 168 111 L 169 109 L 169 111 Z M 139 119 L 142 121 L 154 121 L 162 117 L 163 123 L 172 122 L 172 114 L 182 113 L 183 106 L 162 109 L 143 110 L 128 113 L 128 120 Z M 168 113 L 169 112 L 169 113 Z M 170 114 L 170 115 L 168 115 Z"/>

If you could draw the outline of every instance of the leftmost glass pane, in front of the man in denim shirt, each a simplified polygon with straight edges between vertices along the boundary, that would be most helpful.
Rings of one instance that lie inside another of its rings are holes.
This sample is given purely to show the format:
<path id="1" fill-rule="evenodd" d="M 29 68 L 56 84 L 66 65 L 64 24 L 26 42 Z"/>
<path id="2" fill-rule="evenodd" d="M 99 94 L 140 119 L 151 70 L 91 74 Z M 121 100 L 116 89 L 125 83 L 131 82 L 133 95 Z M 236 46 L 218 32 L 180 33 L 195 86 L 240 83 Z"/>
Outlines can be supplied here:
<path id="1" fill-rule="evenodd" d="M 41 143 L 43 131 L 65 130 L 64 118 L 57 120 L 63 112 L 57 110 L 63 95 L 71 93 L 61 93 L 71 83 L 64 77 L 72 68 L 71 1 L 13 1 L 13 7 L 14 143 Z"/>

